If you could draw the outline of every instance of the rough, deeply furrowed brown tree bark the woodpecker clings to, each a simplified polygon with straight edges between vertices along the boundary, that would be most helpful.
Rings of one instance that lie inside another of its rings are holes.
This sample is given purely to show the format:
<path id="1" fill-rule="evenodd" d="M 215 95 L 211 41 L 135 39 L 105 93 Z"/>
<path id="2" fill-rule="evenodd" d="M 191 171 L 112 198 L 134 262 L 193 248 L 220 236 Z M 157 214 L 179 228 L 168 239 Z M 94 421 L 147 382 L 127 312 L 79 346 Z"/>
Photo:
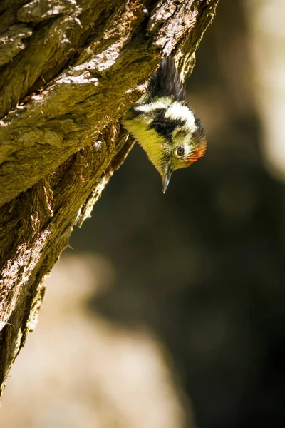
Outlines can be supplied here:
<path id="1" fill-rule="evenodd" d="M 133 141 L 120 118 L 162 56 L 182 76 L 218 0 L 0 4 L 0 391 L 51 270 Z"/>

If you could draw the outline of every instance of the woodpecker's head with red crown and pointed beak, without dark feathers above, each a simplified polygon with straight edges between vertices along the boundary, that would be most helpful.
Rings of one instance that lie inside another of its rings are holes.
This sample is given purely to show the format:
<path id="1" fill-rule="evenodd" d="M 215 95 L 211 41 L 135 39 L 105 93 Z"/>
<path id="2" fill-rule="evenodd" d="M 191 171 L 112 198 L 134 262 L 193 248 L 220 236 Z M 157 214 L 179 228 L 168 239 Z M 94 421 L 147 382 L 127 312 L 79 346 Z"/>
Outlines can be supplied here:
<path id="1" fill-rule="evenodd" d="M 123 126 L 147 153 L 162 176 L 165 193 L 172 173 L 201 158 L 206 150 L 206 133 L 186 101 L 155 98 L 135 105 L 123 118 Z"/>

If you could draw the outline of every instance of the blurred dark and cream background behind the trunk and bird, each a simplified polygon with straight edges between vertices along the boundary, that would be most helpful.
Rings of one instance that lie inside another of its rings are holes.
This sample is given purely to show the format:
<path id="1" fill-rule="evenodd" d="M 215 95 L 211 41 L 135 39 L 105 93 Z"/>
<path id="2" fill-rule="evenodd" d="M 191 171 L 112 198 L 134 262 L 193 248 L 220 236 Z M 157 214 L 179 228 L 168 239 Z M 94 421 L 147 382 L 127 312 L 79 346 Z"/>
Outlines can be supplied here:
<path id="1" fill-rule="evenodd" d="M 8 428 L 285 426 L 285 3 L 220 1 L 188 100 L 204 158 L 135 146 L 48 279 Z"/>

